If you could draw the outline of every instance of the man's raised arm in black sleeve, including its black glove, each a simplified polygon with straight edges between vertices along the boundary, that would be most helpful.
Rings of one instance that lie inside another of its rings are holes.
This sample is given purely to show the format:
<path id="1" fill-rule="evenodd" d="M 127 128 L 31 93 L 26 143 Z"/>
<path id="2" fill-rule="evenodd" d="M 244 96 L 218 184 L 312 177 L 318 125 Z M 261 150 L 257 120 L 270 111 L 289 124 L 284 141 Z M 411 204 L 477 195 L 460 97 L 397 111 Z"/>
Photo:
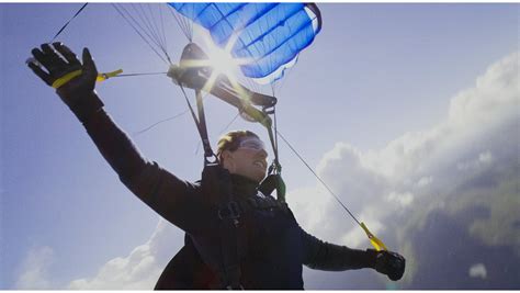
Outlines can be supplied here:
<path id="1" fill-rule="evenodd" d="M 82 63 L 61 43 L 44 44 L 32 54 L 29 67 L 56 88 L 121 181 L 162 217 L 185 232 L 195 232 L 200 224 L 188 214 L 201 209 L 193 185 L 143 158 L 106 114 L 94 91 L 98 70 L 90 52 L 83 49 Z"/>

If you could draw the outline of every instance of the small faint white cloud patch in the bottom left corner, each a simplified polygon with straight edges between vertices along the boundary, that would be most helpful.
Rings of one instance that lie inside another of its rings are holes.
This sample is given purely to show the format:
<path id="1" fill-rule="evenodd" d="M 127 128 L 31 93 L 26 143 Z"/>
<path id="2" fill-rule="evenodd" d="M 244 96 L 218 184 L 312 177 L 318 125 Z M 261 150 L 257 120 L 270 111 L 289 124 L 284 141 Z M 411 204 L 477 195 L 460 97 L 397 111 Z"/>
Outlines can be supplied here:
<path id="1" fill-rule="evenodd" d="M 18 290 L 45 290 L 50 289 L 49 268 L 54 262 L 54 251 L 50 247 L 31 248 L 21 267 L 15 289 Z"/>

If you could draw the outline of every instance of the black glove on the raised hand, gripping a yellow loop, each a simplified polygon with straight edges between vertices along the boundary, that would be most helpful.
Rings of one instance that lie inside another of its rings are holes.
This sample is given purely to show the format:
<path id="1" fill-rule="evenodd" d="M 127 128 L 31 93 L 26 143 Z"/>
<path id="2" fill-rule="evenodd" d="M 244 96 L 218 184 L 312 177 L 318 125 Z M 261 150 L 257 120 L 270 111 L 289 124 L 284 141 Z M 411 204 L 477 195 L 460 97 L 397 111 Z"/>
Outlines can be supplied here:
<path id="1" fill-rule="evenodd" d="M 43 44 L 41 49 L 33 48 L 31 53 L 34 60 L 29 60 L 27 66 L 45 83 L 56 88 L 58 95 L 80 121 L 84 122 L 103 106 L 94 92 L 98 69 L 88 48 L 83 49 L 83 64 L 61 43 L 54 43 L 53 46 Z M 77 72 L 77 76 L 59 84 L 60 79 L 72 72 Z"/>

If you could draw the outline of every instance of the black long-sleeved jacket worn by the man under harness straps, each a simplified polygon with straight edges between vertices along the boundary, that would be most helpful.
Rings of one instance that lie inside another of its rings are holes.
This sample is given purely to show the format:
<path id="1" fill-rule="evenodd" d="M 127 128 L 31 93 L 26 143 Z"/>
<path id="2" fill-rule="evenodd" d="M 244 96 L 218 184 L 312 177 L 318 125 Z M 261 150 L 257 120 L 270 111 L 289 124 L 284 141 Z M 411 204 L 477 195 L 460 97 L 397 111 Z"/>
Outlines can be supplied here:
<path id="1" fill-rule="evenodd" d="M 185 246 L 167 266 L 156 289 L 218 286 L 212 266 L 218 258 L 218 217 L 201 185 L 145 160 L 103 109 L 91 111 L 82 122 L 121 181 L 186 233 Z M 239 224 L 245 239 L 239 245 L 240 283 L 245 289 L 303 289 L 303 264 L 331 271 L 374 267 L 375 255 L 369 250 L 324 243 L 307 234 L 287 206 L 260 209 L 248 204 L 250 199 L 259 199 L 255 182 L 238 176 L 233 176 L 231 182 L 234 194 L 245 209 Z"/>

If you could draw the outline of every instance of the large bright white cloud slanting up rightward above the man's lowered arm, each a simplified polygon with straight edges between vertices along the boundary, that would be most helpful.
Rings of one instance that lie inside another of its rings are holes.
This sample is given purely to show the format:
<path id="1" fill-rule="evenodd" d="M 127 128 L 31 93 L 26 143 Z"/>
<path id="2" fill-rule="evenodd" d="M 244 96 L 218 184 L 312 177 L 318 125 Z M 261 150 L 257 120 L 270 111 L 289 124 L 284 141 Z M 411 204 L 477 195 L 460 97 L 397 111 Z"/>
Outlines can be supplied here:
<path id="1" fill-rule="evenodd" d="M 380 150 L 336 144 L 324 155 L 318 174 L 360 219 L 369 226 L 381 223 L 384 229 L 383 218 L 403 214 L 416 199 L 453 189 L 465 174 L 499 166 L 500 159 L 518 158 L 518 142 L 511 139 L 520 120 L 518 64 L 519 53 L 513 53 L 491 65 L 473 88 L 452 98 L 446 119 L 429 129 L 406 133 Z M 330 201 L 309 230 L 343 221 L 337 205 Z M 335 228 L 324 237 L 353 235 L 342 225 Z"/>

